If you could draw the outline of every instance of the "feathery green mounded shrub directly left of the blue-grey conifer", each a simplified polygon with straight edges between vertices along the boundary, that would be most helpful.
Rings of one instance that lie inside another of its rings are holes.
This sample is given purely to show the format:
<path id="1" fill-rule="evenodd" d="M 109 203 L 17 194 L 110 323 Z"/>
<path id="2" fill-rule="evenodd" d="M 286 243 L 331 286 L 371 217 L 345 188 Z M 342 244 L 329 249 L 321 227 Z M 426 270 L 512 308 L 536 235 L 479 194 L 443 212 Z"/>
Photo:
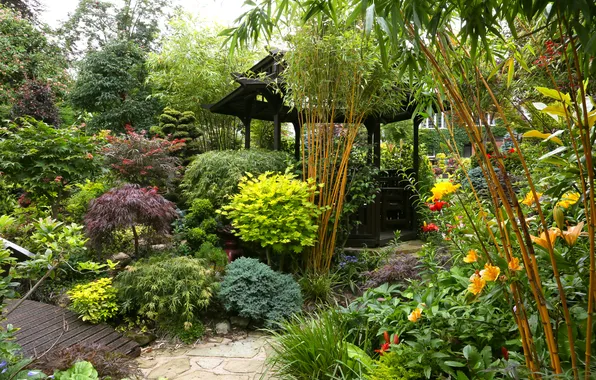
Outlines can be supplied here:
<path id="1" fill-rule="evenodd" d="M 118 274 L 114 286 L 123 313 L 188 330 L 218 284 L 199 259 L 156 257 Z"/>

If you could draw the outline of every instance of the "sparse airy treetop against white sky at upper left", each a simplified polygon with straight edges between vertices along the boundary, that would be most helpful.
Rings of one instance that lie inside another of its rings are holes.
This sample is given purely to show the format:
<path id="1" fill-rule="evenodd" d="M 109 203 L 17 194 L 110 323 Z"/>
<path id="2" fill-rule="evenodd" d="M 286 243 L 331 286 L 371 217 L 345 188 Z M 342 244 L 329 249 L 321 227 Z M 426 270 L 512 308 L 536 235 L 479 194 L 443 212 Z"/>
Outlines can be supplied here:
<path id="1" fill-rule="evenodd" d="M 80 0 L 60 27 L 72 54 L 99 49 L 114 40 L 131 41 L 150 50 L 159 35 L 170 0 Z"/>

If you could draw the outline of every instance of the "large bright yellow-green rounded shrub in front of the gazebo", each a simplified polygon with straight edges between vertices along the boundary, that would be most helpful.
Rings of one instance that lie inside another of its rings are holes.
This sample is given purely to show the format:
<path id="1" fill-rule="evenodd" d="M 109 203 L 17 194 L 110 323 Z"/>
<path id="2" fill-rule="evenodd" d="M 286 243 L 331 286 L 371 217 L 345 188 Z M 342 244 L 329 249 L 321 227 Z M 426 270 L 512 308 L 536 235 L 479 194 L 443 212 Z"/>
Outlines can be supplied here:
<path id="1" fill-rule="evenodd" d="M 247 174 L 221 213 L 232 221 L 235 234 L 275 252 L 300 253 L 313 246 L 319 214 L 310 201 L 314 181 L 303 182 L 291 174 Z"/>

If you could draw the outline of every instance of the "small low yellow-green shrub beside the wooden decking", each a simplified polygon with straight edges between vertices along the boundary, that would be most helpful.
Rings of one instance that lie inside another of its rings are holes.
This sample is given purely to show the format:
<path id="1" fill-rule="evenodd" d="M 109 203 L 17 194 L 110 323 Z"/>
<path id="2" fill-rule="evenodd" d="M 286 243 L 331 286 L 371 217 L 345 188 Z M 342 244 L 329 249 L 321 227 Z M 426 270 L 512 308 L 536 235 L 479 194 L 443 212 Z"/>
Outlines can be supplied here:
<path id="1" fill-rule="evenodd" d="M 75 286 L 68 291 L 72 301 L 70 309 L 83 321 L 100 323 L 112 318 L 118 312 L 116 289 L 111 278 L 100 278 L 88 284 Z"/>

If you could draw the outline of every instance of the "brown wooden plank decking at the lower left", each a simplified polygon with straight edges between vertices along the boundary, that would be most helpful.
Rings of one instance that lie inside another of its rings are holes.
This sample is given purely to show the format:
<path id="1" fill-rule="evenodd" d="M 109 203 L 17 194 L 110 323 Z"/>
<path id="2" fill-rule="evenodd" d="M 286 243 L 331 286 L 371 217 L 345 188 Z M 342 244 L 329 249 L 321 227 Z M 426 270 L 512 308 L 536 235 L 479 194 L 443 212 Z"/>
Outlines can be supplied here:
<path id="1" fill-rule="evenodd" d="M 8 303 L 10 309 L 16 301 Z M 69 347 L 77 343 L 101 344 L 108 349 L 131 357 L 141 353 L 139 345 L 111 326 L 83 322 L 70 310 L 36 301 L 24 301 L 2 322 L 20 328 L 16 342 L 25 354 L 37 356 L 51 347 Z"/>

